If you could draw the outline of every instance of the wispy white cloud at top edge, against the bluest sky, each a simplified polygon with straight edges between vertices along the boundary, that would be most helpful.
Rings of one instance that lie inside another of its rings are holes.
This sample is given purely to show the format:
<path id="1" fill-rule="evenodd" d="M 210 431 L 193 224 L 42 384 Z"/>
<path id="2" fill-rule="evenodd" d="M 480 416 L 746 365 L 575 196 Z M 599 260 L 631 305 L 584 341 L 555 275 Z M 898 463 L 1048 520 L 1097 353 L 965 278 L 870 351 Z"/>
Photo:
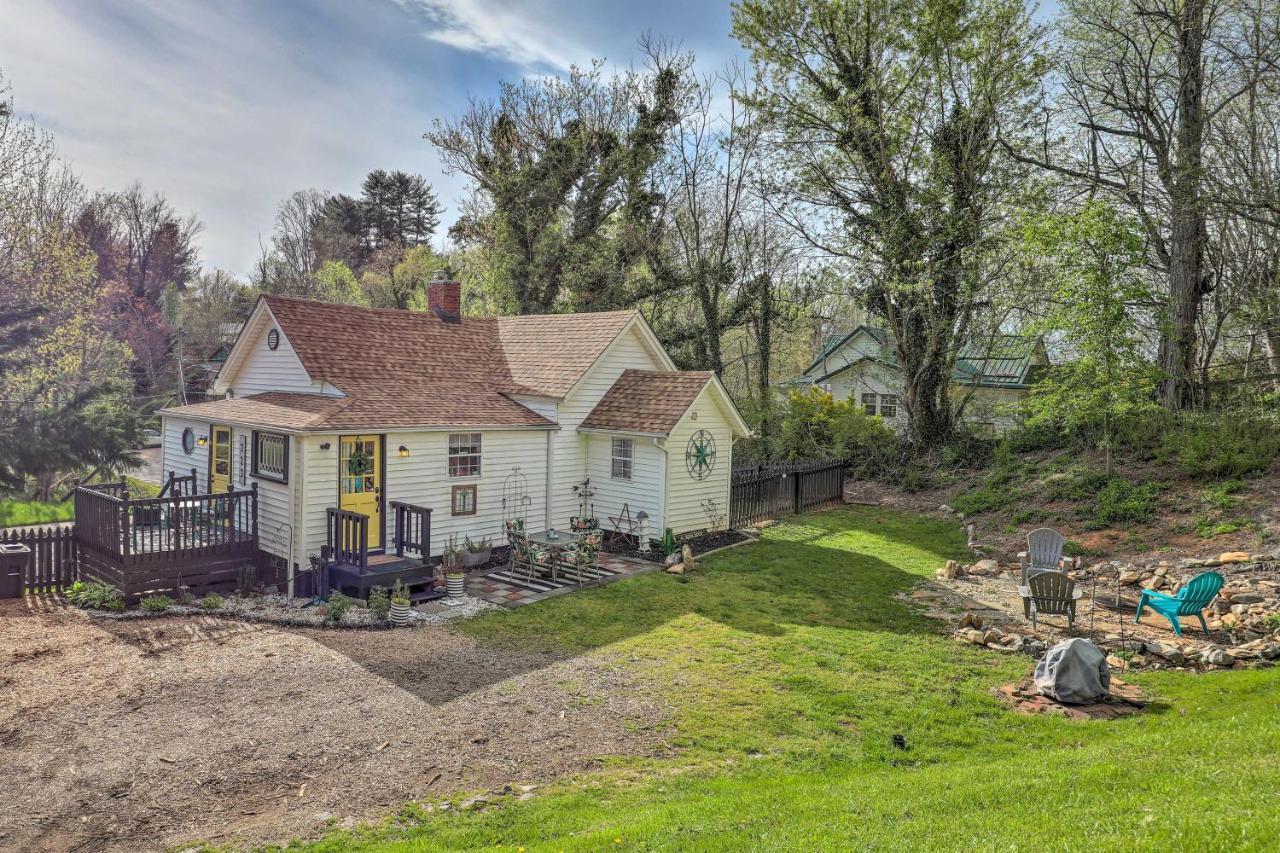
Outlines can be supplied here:
<path id="1" fill-rule="evenodd" d="M 398 0 L 430 41 L 521 65 L 567 70 L 593 58 L 559 15 L 520 0 Z"/>

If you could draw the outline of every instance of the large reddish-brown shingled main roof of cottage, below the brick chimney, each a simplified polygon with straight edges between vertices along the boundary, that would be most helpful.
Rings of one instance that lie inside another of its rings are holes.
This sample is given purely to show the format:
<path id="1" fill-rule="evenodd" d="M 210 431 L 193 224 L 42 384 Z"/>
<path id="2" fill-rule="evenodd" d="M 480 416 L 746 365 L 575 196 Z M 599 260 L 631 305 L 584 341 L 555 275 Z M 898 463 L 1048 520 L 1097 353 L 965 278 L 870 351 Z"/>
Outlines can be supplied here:
<path id="1" fill-rule="evenodd" d="M 561 397 L 634 311 L 463 318 L 261 297 L 312 380 L 344 396 L 269 392 L 163 410 L 280 429 L 553 426 L 508 394 Z"/>

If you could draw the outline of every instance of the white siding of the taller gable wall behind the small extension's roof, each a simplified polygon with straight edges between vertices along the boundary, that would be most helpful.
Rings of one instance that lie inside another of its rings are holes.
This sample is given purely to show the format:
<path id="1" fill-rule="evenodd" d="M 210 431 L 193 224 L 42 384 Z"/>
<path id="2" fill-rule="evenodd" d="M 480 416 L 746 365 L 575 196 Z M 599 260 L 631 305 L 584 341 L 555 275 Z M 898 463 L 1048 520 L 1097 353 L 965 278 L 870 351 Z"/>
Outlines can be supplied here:
<path id="1" fill-rule="evenodd" d="M 635 325 L 609 345 L 608 350 L 591 365 L 577 387 L 559 405 L 559 434 L 552 441 L 552 525 L 564 526 L 570 516 L 577 515 L 577 496 L 573 485 L 586 476 L 586 435 L 577 432 L 600 397 L 613 387 L 623 370 L 662 370 L 662 365 L 641 342 Z M 593 478 L 594 482 L 594 478 Z"/>

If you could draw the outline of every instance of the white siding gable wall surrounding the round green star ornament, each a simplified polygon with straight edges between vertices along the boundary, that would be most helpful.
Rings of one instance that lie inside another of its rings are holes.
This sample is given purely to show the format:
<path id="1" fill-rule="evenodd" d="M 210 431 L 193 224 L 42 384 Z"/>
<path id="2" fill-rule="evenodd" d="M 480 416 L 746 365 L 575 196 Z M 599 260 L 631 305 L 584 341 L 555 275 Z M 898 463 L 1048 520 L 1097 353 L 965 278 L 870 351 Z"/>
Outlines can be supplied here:
<path id="1" fill-rule="evenodd" d="M 705 530 L 710 526 L 703 501 L 716 502 L 719 514 L 719 528 L 728 521 L 730 473 L 733 469 L 733 433 L 728 419 L 716 401 L 713 386 L 703 388 L 694 405 L 671 430 L 667 442 L 667 501 L 666 521 L 676 535 L 690 530 Z M 694 418 L 696 412 L 698 418 Z M 716 466 L 703 480 L 689 475 L 685 464 L 685 450 L 689 439 L 699 429 L 708 430 L 716 438 Z"/>

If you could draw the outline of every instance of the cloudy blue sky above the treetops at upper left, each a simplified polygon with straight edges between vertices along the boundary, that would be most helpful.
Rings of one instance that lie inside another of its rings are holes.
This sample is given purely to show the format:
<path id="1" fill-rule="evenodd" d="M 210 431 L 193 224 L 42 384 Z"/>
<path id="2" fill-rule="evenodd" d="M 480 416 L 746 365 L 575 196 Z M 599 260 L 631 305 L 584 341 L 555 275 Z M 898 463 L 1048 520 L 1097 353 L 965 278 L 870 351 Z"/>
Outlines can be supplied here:
<path id="1" fill-rule="evenodd" d="M 422 133 L 500 79 L 607 58 L 645 31 L 714 68 L 719 0 L 3 0 L 0 72 L 90 188 L 141 181 L 205 223 L 202 259 L 247 274 L 294 190 L 370 169 L 463 187 Z"/>

